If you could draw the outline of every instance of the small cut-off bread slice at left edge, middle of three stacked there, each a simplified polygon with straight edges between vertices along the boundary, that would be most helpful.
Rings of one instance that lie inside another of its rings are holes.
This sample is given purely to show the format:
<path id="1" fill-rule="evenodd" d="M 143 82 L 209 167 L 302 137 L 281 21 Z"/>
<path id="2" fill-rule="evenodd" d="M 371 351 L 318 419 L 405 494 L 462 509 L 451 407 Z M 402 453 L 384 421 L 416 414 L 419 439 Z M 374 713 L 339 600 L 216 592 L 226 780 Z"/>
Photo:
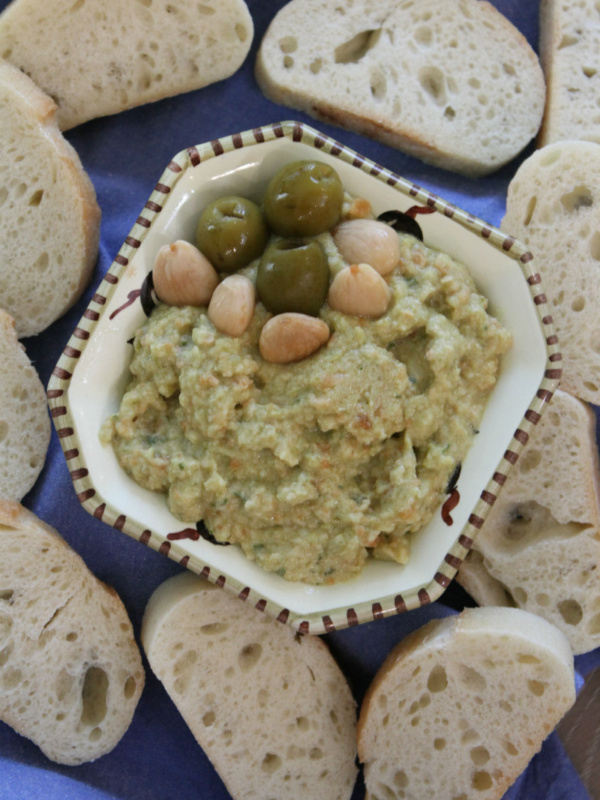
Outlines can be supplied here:
<path id="1" fill-rule="evenodd" d="M 17 339 L 15 321 L 0 309 L 0 497 L 21 500 L 36 482 L 50 444 L 46 393 Z"/>

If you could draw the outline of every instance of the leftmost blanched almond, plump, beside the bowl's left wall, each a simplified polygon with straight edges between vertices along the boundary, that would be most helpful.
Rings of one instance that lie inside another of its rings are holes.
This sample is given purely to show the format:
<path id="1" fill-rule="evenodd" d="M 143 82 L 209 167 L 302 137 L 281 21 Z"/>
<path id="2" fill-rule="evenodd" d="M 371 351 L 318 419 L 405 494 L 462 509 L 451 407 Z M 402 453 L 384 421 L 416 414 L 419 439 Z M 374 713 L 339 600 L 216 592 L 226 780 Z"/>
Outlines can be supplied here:
<path id="1" fill-rule="evenodd" d="M 171 306 L 205 306 L 219 283 L 213 265 L 190 242 L 160 248 L 152 270 L 154 291 Z"/>

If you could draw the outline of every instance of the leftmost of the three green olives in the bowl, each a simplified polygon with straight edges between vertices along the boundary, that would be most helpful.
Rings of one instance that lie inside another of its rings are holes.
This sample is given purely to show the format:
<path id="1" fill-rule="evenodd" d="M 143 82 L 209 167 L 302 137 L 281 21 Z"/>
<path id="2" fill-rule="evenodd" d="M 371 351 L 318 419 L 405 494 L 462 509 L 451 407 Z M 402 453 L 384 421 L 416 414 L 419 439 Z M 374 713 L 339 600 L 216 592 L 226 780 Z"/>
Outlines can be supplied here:
<path id="1" fill-rule="evenodd" d="M 258 258 L 269 230 L 260 208 L 245 197 L 219 197 L 204 209 L 196 244 L 218 272 L 236 272 Z"/>

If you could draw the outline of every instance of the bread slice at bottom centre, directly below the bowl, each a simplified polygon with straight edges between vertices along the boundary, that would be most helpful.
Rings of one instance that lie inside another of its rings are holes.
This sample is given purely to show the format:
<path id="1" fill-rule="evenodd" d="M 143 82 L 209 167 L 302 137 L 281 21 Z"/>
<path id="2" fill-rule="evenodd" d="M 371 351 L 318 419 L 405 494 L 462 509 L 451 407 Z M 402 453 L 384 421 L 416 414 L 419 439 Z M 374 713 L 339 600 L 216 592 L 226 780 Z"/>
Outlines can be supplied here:
<path id="1" fill-rule="evenodd" d="M 351 796 L 356 707 L 318 637 L 184 572 L 150 598 L 142 645 L 235 800 Z"/>

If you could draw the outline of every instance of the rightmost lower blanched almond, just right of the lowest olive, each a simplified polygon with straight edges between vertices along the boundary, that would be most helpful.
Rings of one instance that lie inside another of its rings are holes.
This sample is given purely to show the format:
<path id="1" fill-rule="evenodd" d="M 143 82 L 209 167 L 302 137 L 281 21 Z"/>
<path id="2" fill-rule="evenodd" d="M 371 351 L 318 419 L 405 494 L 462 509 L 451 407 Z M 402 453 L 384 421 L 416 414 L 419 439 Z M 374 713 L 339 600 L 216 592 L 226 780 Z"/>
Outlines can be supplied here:
<path id="1" fill-rule="evenodd" d="M 388 310 L 390 297 L 390 287 L 373 267 L 353 264 L 332 280 L 327 302 L 344 314 L 377 318 Z"/>

